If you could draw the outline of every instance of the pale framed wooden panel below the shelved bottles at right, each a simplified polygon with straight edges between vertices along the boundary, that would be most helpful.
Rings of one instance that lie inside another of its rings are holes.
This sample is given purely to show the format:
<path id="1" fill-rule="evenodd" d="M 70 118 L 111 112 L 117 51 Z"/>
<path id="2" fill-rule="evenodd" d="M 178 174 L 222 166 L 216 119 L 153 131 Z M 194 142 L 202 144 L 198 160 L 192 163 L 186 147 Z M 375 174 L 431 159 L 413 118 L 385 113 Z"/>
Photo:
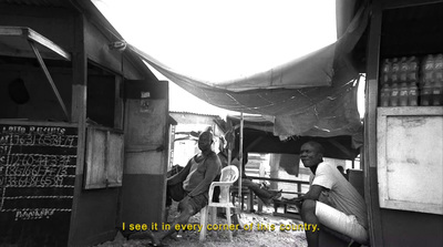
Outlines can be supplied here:
<path id="1" fill-rule="evenodd" d="M 380 207 L 443 214 L 442 135 L 441 106 L 379 107 Z"/>

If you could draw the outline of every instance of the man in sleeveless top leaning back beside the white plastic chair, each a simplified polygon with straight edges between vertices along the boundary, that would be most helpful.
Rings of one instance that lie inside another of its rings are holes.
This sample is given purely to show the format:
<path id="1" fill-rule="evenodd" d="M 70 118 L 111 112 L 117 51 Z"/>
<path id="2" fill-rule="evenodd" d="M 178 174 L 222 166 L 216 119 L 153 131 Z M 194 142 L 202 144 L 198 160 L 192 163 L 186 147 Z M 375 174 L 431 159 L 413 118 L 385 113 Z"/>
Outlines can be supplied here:
<path id="1" fill-rule="evenodd" d="M 208 204 L 209 186 L 222 168 L 220 159 L 210 150 L 213 142 L 213 134 L 203 132 L 198 137 L 198 148 L 202 153 L 192 157 L 185 168 L 167 179 L 167 194 L 174 200 L 179 200 L 181 214 L 171 224 L 169 230 L 147 231 L 154 246 L 159 246 L 163 238 L 176 231 L 177 224 L 186 224 L 190 216 Z"/>

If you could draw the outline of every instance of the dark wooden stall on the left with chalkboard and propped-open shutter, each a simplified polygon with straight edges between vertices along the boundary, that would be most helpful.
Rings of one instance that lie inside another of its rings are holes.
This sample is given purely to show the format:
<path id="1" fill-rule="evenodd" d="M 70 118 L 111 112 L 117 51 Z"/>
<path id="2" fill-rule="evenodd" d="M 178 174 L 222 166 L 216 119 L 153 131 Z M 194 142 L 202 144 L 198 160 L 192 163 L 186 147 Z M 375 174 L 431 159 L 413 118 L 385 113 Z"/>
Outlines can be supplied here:
<path id="1" fill-rule="evenodd" d="M 90 1 L 0 1 L 1 246 L 162 222 L 167 82 L 125 48 Z"/>

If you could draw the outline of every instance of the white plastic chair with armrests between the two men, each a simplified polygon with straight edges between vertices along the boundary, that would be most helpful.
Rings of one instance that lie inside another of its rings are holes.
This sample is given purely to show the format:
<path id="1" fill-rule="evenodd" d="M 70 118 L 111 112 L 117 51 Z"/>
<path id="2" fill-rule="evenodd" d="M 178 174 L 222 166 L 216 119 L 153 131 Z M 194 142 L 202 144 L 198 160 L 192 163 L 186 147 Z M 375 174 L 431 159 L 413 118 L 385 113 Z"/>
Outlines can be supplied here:
<path id="1" fill-rule="evenodd" d="M 228 165 L 222 169 L 220 181 L 213 182 L 210 184 L 208 205 L 200 210 L 200 225 L 202 225 L 202 231 L 200 231 L 200 237 L 199 237 L 200 241 L 205 240 L 205 237 L 206 237 L 207 218 L 208 218 L 209 210 L 210 210 L 210 216 L 212 216 L 210 222 L 212 222 L 212 224 L 216 224 L 217 207 L 226 208 L 226 219 L 227 219 L 228 227 L 230 227 L 230 225 L 231 225 L 230 208 L 235 207 L 235 206 L 230 202 L 229 187 L 238 179 L 238 176 L 239 176 L 239 172 L 238 172 L 237 166 Z M 220 187 L 219 203 L 213 202 L 215 186 Z M 229 235 L 229 240 L 233 240 L 233 231 L 230 229 L 228 229 L 227 231 Z M 213 233 L 215 233 L 215 231 L 213 231 Z"/>

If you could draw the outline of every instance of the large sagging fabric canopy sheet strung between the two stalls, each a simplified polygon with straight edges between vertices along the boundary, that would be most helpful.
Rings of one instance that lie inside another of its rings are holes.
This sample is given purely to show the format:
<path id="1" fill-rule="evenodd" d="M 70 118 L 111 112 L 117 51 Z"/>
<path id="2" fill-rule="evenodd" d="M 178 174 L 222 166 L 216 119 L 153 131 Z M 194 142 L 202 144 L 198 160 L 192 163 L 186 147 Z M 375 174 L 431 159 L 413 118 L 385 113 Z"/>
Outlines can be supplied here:
<path id="1" fill-rule="evenodd" d="M 354 135 L 361 125 L 354 83 L 359 73 L 349 56 L 367 27 L 368 12 L 361 8 L 336 43 L 267 72 L 226 82 L 181 74 L 135 47 L 128 48 L 209 104 L 269 116 L 275 135 Z"/>

